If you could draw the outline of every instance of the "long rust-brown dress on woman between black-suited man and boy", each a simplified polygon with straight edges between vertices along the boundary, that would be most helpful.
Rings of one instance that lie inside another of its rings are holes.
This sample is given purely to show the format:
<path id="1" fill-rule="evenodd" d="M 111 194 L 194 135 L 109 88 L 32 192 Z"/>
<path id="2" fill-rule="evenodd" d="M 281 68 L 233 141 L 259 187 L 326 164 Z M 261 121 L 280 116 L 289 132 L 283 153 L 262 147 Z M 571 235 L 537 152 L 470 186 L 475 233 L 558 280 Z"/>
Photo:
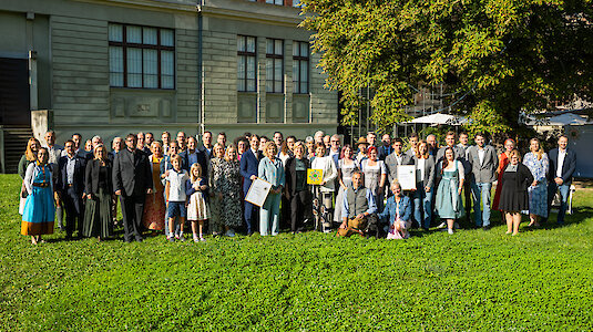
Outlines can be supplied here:
<path id="1" fill-rule="evenodd" d="M 161 183 L 161 160 L 154 155 L 149 157 L 152 165 L 152 180 L 154 184 L 153 193 L 146 195 L 144 203 L 144 216 L 142 224 L 146 229 L 163 230 L 165 229 L 165 198 L 163 196 L 164 187 Z"/>

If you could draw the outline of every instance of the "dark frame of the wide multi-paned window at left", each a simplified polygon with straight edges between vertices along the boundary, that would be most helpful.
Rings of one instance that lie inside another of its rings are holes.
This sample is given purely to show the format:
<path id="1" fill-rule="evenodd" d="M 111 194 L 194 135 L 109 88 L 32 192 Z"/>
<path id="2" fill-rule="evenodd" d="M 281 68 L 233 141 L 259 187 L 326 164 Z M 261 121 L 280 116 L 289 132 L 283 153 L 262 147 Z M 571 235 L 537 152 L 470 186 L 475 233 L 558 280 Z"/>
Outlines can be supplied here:
<path id="1" fill-rule="evenodd" d="M 175 59 L 175 29 L 168 29 L 168 28 L 160 28 L 160 27 L 151 27 L 151 25 L 139 25 L 139 24 L 127 24 L 127 23 L 120 23 L 120 22 L 109 22 L 109 24 L 117 24 L 122 25 L 122 41 L 111 41 L 109 40 L 109 46 L 117 46 L 122 48 L 122 61 L 123 61 L 123 85 L 122 86 L 113 86 L 110 83 L 110 87 L 122 87 L 122 89 L 143 89 L 143 90 L 175 90 L 176 87 L 176 59 Z M 127 42 L 127 27 L 139 27 L 142 30 L 141 37 L 142 37 L 142 43 L 131 43 Z M 144 43 L 144 28 L 152 28 L 156 29 L 156 45 L 153 44 L 145 44 Z M 173 46 L 165 46 L 161 44 L 161 30 L 170 30 L 173 32 Z M 127 86 L 127 49 L 139 49 L 142 50 L 141 52 L 141 63 L 142 63 L 142 86 Z M 144 52 L 143 50 L 156 50 L 156 75 L 157 75 L 157 85 L 156 87 L 145 87 L 144 86 Z M 173 87 L 162 87 L 162 66 L 161 66 L 161 54 L 162 51 L 170 51 L 173 52 Z M 111 74 L 111 70 L 110 70 Z"/>

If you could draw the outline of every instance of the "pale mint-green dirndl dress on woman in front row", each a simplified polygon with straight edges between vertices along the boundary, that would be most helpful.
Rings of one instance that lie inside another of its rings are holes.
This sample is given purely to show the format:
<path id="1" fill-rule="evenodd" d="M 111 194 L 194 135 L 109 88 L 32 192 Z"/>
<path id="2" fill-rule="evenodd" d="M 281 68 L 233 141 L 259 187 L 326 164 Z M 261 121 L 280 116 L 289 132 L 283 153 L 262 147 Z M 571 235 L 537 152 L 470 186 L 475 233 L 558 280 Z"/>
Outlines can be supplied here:
<path id="1" fill-rule="evenodd" d="M 459 195 L 459 160 L 452 170 L 443 169 L 437 189 L 436 209 L 441 219 L 459 219 L 466 215 L 463 201 Z M 441 164 L 442 167 L 442 164 Z M 440 168 L 440 167 L 439 167 Z"/>

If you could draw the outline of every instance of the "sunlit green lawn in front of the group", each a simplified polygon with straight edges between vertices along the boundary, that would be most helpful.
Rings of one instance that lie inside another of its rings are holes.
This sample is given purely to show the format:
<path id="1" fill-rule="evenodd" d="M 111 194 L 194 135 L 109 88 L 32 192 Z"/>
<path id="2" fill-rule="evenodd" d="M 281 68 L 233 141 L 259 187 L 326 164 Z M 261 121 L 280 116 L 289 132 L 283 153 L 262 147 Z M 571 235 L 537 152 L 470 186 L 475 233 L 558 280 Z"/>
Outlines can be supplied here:
<path id="1" fill-rule="evenodd" d="M 593 329 L 593 191 L 576 194 L 568 226 L 518 237 L 497 225 L 407 241 L 32 246 L 19 235 L 19 186 L 0 175 L 1 331 Z"/>

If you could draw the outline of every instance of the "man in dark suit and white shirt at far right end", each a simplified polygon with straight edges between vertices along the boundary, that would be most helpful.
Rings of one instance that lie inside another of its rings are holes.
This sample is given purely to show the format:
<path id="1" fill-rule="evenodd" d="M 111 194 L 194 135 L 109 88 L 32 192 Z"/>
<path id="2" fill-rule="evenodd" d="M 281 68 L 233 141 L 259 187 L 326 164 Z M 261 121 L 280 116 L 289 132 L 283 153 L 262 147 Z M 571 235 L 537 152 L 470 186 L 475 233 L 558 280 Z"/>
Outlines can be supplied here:
<path id="1" fill-rule="evenodd" d="M 560 210 L 558 211 L 558 225 L 564 225 L 566 215 L 566 203 L 572 184 L 572 175 L 576 168 L 576 154 L 568 148 L 569 137 L 562 135 L 558 138 L 558 147 L 550 151 L 550 172 L 548 173 L 548 211 L 554 200 L 554 195 L 560 190 Z M 548 218 L 545 218 L 546 220 Z M 542 221 L 545 221 L 542 219 Z"/>

